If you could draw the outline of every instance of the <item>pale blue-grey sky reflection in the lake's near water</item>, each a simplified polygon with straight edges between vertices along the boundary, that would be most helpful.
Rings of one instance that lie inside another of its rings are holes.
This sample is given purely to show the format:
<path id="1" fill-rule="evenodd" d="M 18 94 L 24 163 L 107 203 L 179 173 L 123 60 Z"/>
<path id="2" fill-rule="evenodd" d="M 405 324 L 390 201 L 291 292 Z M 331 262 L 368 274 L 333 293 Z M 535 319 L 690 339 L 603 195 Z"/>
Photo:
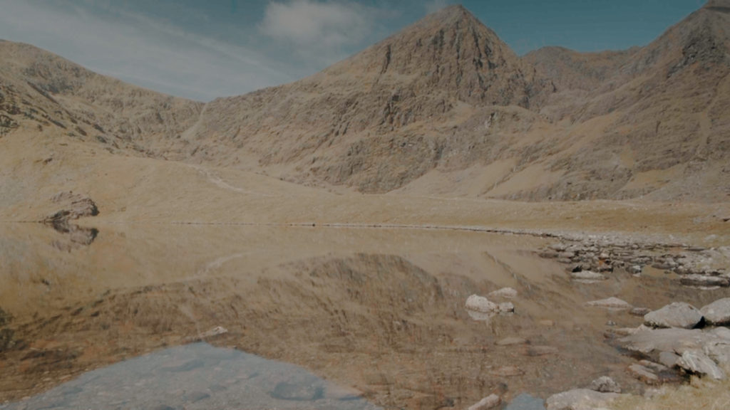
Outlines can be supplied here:
<path id="1" fill-rule="evenodd" d="M 3 409 L 374 410 L 377 407 L 299 366 L 196 343 L 91 371 Z"/>

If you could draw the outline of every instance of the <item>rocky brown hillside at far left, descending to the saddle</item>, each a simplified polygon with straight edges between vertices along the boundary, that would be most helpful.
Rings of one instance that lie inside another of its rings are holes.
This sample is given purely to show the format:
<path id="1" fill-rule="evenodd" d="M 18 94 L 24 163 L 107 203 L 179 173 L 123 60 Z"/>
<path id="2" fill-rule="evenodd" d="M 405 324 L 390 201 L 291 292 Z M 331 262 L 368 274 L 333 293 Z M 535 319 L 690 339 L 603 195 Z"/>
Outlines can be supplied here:
<path id="1" fill-rule="evenodd" d="M 55 128 L 110 152 L 165 155 L 203 106 L 101 76 L 31 45 L 2 41 L 0 55 L 0 115 L 9 123 Z"/>

